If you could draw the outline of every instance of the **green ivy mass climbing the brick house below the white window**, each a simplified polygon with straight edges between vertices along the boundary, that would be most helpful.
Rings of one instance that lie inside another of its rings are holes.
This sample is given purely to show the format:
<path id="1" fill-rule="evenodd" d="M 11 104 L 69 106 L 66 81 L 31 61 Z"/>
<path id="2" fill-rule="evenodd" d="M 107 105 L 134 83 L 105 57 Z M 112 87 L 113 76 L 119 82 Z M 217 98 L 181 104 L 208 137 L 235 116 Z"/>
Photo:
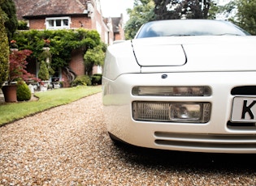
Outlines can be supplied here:
<path id="1" fill-rule="evenodd" d="M 50 40 L 51 67 L 56 70 L 58 67 L 67 66 L 72 58 L 72 50 L 82 49 L 84 53 L 102 44 L 97 31 L 85 30 L 29 30 L 17 32 L 14 40 L 19 49 L 30 49 L 33 57 L 37 57 L 43 51 L 46 40 Z"/>

